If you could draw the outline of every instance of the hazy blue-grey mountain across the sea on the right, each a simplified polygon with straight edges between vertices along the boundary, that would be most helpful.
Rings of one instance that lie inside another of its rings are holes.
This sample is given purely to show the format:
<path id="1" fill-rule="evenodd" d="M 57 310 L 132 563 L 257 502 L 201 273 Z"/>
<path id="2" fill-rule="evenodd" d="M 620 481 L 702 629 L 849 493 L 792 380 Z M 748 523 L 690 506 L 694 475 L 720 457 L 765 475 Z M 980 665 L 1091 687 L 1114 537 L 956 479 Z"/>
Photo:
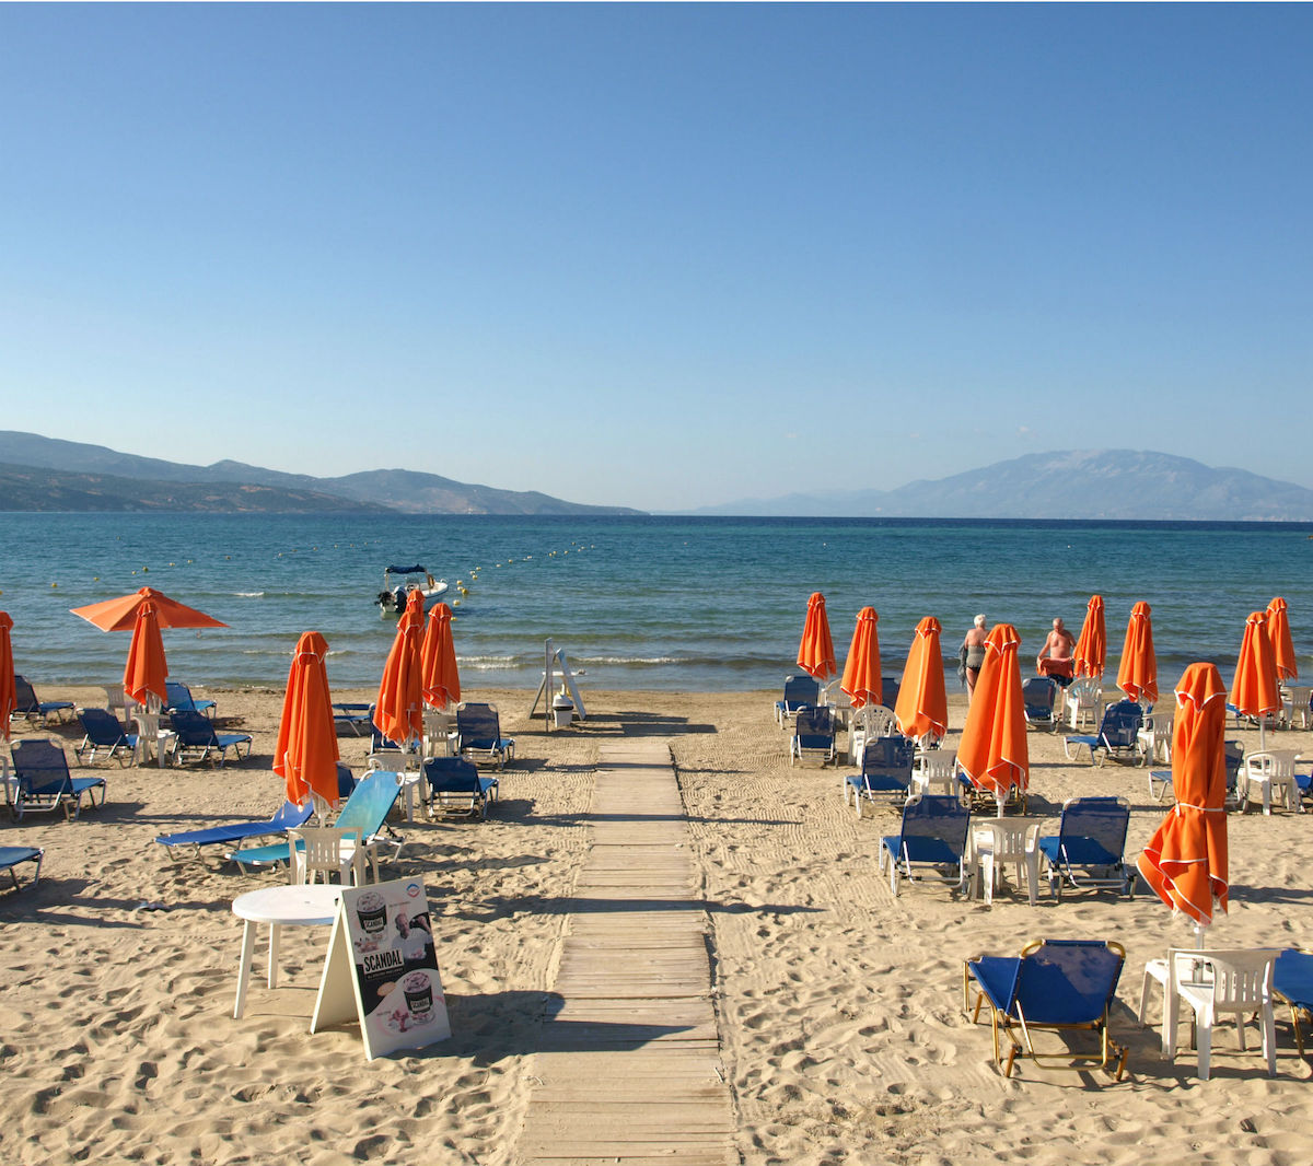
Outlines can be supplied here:
<path id="1" fill-rule="evenodd" d="M 1313 521 L 1313 490 L 1132 449 L 1035 453 L 897 490 L 789 494 L 699 515 Z"/>

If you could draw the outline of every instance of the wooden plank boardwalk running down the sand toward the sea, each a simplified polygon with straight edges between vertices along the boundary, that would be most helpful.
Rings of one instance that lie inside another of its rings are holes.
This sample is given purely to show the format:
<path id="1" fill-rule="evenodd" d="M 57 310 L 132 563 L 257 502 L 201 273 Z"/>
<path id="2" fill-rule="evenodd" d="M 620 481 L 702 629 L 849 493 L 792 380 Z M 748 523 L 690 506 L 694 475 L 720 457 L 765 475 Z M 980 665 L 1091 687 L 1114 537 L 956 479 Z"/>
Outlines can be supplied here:
<path id="1" fill-rule="evenodd" d="M 697 896 L 670 747 L 603 746 L 516 1162 L 737 1161 Z"/>

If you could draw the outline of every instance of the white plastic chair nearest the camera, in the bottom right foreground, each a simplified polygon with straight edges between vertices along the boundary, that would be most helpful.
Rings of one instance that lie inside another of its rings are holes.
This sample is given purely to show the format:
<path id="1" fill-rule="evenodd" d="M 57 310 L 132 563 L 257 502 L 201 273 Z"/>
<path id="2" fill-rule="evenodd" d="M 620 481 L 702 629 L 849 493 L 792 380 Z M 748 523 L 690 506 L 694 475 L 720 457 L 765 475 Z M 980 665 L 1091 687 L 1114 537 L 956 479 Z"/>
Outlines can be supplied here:
<path id="1" fill-rule="evenodd" d="M 1213 1024 L 1220 1016 L 1236 1018 L 1241 1052 L 1245 1050 L 1245 1018 L 1257 1015 L 1263 1037 L 1267 1075 L 1276 1075 L 1276 1020 L 1272 1012 L 1272 965 L 1278 948 L 1173 952 L 1176 998 L 1195 1012 L 1199 1044 L 1199 1079 L 1212 1071 Z M 1171 1056 L 1176 1050 L 1175 1008 L 1165 1010 L 1165 1033 Z"/>

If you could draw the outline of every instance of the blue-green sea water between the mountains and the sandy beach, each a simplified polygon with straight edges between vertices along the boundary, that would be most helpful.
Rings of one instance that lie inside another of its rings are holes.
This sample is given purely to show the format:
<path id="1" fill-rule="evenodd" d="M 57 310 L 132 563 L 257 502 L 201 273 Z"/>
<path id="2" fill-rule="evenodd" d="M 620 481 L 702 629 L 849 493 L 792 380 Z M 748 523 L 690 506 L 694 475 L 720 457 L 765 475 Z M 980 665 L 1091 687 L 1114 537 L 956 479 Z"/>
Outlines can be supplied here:
<path id="1" fill-rule="evenodd" d="M 775 689 L 813 591 L 840 667 L 857 609 L 876 608 L 886 672 L 927 615 L 949 657 L 977 612 L 1010 621 L 1024 663 L 1054 616 L 1079 630 L 1095 591 L 1115 672 L 1142 599 L 1165 688 L 1192 660 L 1229 679 L 1246 615 L 1283 595 L 1313 674 L 1313 524 L 0 515 L 0 534 L 14 663 L 47 684 L 121 679 L 127 633 L 68 609 L 147 584 L 230 625 L 167 630 L 175 676 L 281 687 L 297 637 L 318 629 L 335 687 L 376 684 L 395 625 L 372 601 L 387 563 L 416 561 L 450 599 L 457 579 L 469 588 L 454 634 L 470 691 L 536 687 L 548 637 L 586 670 L 586 692 Z"/>

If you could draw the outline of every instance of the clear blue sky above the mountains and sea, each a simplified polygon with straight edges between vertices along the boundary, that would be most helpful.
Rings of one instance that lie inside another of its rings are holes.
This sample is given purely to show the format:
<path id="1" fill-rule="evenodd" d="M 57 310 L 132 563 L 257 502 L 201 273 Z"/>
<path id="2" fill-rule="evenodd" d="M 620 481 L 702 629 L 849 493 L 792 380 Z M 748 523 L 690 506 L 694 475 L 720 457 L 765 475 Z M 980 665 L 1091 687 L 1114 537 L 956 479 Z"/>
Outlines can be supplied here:
<path id="1" fill-rule="evenodd" d="M 0 428 L 684 508 L 1313 486 L 1313 7 L 3 5 Z"/>

